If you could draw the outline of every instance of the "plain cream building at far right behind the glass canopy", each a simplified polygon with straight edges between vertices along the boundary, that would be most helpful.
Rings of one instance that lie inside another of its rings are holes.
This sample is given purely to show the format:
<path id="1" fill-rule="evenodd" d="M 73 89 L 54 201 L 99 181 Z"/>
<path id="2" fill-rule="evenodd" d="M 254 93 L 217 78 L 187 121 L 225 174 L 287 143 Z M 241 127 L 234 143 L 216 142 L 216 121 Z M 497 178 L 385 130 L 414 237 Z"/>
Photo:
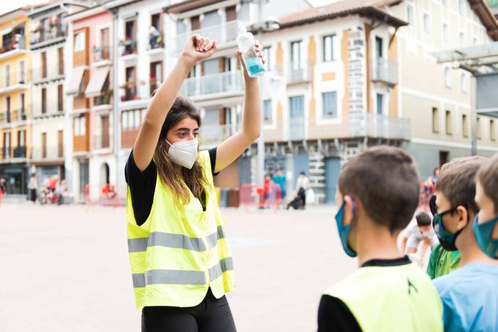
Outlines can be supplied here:
<path id="1" fill-rule="evenodd" d="M 411 120 L 406 149 L 415 156 L 421 175 L 436 166 L 470 155 L 470 73 L 436 63 L 433 53 L 498 40 L 497 21 L 484 0 L 405 0 L 391 8 L 408 21 L 400 28 L 401 115 Z M 497 119 L 477 118 L 478 154 L 498 151 Z"/>

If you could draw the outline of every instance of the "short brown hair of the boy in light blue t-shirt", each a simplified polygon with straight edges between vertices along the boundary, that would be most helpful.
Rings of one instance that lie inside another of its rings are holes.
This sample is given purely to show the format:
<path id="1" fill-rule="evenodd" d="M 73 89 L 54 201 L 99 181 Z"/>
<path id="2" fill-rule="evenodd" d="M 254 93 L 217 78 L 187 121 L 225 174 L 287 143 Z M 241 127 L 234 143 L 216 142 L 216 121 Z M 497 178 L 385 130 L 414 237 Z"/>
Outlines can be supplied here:
<path id="1" fill-rule="evenodd" d="M 473 213 L 479 212 L 475 203 L 475 176 L 484 161 L 484 157 L 472 156 L 456 158 L 443 165 L 436 191 L 443 193 L 451 208 L 462 205 Z"/>

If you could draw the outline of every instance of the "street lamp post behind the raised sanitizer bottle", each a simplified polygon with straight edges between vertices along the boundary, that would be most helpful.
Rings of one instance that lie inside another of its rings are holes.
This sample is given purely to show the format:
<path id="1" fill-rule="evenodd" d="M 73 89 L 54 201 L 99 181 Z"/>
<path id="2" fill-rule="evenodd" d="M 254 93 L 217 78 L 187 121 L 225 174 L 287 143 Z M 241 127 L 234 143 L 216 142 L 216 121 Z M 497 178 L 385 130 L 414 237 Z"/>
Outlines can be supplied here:
<path id="1" fill-rule="evenodd" d="M 263 38 L 263 32 L 274 31 L 280 28 L 280 21 L 275 16 L 269 16 L 265 21 L 263 21 L 263 4 L 267 4 L 269 0 L 250 0 L 248 2 L 253 2 L 258 5 L 258 22 L 251 27 L 251 30 L 258 31 L 258 40 L 260 43 L 261 38 Z M 260 91 L 261 80 L 260 80 Z M 264 109 L 263 109 L 263 99 L 260 101 L 261 104 L 261 131 L 258 138 L 258 162 L 256 166 L 256 184 L 262 186 L 265 178 L 265 138 L 263 136 L 263 124 L 264 124 Z"/>

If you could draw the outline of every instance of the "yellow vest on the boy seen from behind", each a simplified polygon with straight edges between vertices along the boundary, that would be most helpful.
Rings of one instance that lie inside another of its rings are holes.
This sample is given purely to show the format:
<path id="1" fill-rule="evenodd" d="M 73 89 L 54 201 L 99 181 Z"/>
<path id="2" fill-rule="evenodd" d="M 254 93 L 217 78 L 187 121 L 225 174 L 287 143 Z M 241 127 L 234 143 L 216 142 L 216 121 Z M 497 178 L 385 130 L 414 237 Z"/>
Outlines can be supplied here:
<path id="1" fill-rule="evenodd" d="M 348 306 L 364 332 L 443 331 L 443 306 L 415 263 L 360 267 L 325 294 Z"/>

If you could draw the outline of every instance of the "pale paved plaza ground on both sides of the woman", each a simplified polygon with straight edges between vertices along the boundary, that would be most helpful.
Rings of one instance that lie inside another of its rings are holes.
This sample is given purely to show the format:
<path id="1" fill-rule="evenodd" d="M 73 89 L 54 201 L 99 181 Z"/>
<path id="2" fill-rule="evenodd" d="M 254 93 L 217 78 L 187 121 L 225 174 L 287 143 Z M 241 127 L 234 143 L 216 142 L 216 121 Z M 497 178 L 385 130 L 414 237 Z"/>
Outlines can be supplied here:
<path id="1" fill-rule="evenodd" d="M 316 331 L 322 291 L 352 272 L 335 209 L 223 210 L 240 332 Z M 139 331 L 124 208 L 0 205 L 0 331 Z"/>

